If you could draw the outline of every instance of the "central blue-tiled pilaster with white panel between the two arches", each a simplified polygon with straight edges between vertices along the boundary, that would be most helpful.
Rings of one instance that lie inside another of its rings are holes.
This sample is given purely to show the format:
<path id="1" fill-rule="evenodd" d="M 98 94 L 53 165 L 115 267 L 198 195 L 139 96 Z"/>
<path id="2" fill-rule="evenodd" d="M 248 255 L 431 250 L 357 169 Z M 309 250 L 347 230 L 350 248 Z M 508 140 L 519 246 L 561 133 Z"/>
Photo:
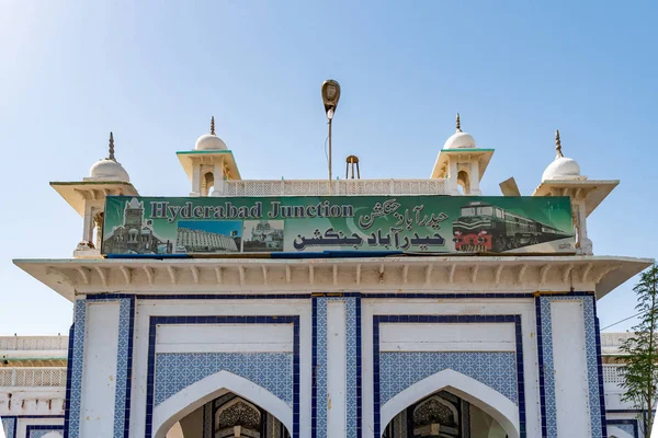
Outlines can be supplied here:
<path id="1" fill-rule="evenodd" d="M 313 323 L 311 438 L 360 438 L 361 298 L 314 297 Z"/>

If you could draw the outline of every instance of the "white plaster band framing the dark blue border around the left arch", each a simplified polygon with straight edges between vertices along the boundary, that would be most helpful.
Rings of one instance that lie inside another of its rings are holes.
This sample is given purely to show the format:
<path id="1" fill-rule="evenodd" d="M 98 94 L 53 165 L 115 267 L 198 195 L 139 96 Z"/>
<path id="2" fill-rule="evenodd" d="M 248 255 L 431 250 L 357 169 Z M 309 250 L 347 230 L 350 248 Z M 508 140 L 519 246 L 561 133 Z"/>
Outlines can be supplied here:
<path id="1" fill-rule="evenodd" d="M 143 437 L 145 435 L 146 416 L 146 385 L 147 385 L 147 366 L 148 366 L 148 334 L 150 316 L 173 316 L 173 315 L 298 315 L 299 316 L 299 376 L 300 383 L 300 436 L 310 436 L 310 351 L 311 351 L 311 307 L 310 300 L 276 299 L 276 300 L 147 300 L 137 301 L 137 316 L 135 321 L 135 344 L 133 356 L 133 387 L 132 387 L 132 414 L 131 414 L 131 436 Z M 175 330 L 175 328 L 174 328 Z M 186 332 L 186 334 L 183 334 Z M 179 341 L 194 332 L 193 326 L 179 331 Z M 226 332 L 224 332 L 226 333 Z M 274 344 L 285 343 L 280 336 L 273 338 Z M 169 343 L 167 347 L 161 344 L 160 351 L 177 350 L 177 343 Z M 261 343 L 263 346 L 266 343 Z M 220 344 L 216 344 L 216 348 Z M 164 348 L 164 349 L 162 349 Z M 197 350 L 207 350 L 208 346 L 197 345 Z M 240 348 L 234 345 L 232 348 Z M 231 349 L 232 349 L 231 348 Z M 284 346 L 287 348 L 287 346 Z M 214 349 L 214 348 L 213 348 Z M 180 348 L 178 349 L 180 350 Z M 222 349 L 218 349 L 222 350 Z M 193 401 L 191 401 L 193 402 Z M 253 402 L 258 403 L 258 400 Z M 154 424 L 154 434 L 158 425 Z"/>

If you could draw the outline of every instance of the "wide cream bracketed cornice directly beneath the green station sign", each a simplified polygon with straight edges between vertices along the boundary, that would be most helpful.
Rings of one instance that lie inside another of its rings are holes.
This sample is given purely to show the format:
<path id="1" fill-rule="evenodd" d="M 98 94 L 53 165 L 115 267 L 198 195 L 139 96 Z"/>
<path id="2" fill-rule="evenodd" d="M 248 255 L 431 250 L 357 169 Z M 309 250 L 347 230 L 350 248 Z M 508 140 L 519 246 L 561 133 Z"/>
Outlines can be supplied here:
<path id="1" fill-rule="evenodd" d="M 595 291 L 601 298 L 653 263 L 615 256 L 382 258 L 16 260 L 68 300 L 76 295 L 317 291 Z"/>

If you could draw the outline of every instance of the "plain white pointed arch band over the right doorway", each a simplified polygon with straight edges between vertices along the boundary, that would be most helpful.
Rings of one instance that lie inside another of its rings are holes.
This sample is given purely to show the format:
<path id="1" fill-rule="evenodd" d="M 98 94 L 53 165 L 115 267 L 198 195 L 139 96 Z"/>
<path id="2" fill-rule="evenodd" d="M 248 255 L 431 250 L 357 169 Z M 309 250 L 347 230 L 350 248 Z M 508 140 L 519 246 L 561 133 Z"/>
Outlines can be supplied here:
<path id="1" fill-rule="evenodd" d="M 382 406 L 382 425 L 390 423 L 400 411 L 433 394 L 446 390 L 476 405 L 496 419 L 509 438 L 519 438 L 519 408 L 517 404 L 492 388 L 462 374 L 445 369 L 413 383 Z"/>

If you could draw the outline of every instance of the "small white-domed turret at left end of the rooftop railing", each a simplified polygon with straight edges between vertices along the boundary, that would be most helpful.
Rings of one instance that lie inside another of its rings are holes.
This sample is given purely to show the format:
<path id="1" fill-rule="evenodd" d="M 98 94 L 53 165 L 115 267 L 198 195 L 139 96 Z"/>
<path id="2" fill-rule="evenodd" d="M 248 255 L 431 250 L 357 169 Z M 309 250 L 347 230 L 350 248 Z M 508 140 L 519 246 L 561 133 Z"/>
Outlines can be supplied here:
<path id="1" fill-rule="evenodd" d="M 177 152 L 192 183 L 190 196 L 223 196 L 224 182 L 240 180 L 232 152 L 215 134 L 215 117 L 211 118 L 211 132 L 198 137 L 194 150 Z"/>

